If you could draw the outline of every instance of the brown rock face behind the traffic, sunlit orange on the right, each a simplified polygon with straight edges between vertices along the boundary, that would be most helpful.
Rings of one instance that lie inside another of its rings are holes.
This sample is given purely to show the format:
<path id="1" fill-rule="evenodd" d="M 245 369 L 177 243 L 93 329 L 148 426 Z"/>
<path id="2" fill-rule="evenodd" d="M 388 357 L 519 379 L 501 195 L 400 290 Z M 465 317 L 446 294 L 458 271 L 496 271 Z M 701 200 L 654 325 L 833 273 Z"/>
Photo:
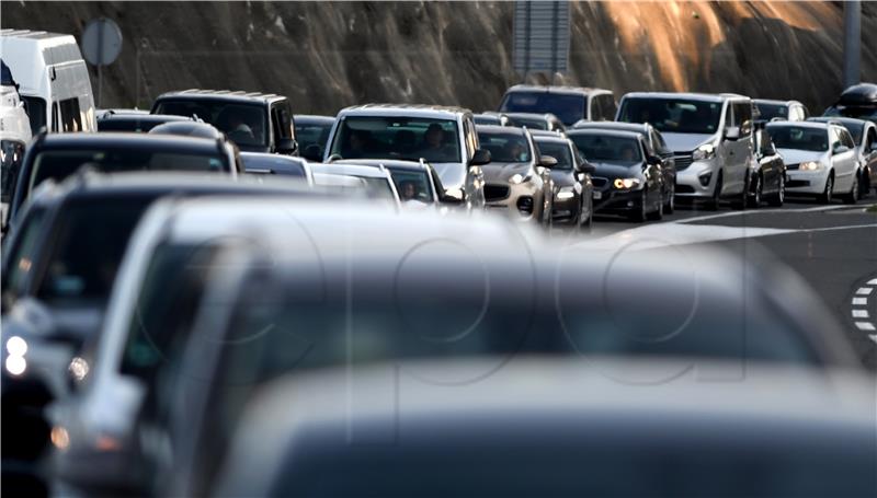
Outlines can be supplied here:
<path id="1" fill-rule="evenodd" d="M 122 27 L 102 107 L 168 90 L 282 93 L 296 113 L 364 102 L 494 108 L 520 82 L 512 2 L 2 2 L 2 26 L 81 36 Z M 580 2 L 571 71 L 555 82 L 797 99 L 821 113 L 842 90 L 840 2 Z M 877 3 L 863 2 L 862 79 L 877 80 Z M 96 71 L 92 69 L 96 92 Z M 545 81 L 544 77 L 540 77 Z"/>

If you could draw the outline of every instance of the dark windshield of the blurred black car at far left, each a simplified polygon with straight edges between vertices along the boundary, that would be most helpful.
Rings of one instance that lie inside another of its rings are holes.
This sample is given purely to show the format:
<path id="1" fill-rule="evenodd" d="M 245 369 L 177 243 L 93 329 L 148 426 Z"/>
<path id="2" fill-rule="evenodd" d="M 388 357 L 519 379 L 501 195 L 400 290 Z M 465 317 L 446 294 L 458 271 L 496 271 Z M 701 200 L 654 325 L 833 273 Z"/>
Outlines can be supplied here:
<path id="1" fill-rule="evenodd" d="M 49 303 L 105 302 L 137 221 L 153 196 L 71 201 L 52 240 L 45 273 L 35 286 Z"/>

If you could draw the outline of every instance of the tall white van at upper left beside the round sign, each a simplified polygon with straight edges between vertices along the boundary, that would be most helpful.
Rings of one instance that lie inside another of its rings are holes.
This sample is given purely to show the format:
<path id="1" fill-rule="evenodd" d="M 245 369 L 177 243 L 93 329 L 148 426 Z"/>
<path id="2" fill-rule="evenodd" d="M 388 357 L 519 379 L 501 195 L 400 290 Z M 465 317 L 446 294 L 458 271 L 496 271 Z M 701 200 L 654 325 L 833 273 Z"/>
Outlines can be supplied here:
<path id="1" fill-rule="evenodd" d="M 89 71 L 72 35 L 0 30 L 0 58 L 19 84 L 33 135 L 98 129 Z"/>

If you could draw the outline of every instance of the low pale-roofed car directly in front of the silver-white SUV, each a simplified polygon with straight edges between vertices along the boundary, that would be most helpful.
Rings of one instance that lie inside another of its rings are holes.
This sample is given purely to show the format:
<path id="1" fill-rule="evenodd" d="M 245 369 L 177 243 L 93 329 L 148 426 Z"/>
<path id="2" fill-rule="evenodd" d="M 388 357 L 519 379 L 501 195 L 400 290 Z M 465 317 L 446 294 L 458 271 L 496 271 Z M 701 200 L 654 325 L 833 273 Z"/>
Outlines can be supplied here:
<path id="1" fill-rule="evenodd" d="M 386 169 L 399 193 L 399 200 L 406 208 L 437 207 L 442 202 L 444 193 L 442 181 L 435 169 L 426 162 L 351 159 L 335 161 L 332 164 L 357 164 Z"/>

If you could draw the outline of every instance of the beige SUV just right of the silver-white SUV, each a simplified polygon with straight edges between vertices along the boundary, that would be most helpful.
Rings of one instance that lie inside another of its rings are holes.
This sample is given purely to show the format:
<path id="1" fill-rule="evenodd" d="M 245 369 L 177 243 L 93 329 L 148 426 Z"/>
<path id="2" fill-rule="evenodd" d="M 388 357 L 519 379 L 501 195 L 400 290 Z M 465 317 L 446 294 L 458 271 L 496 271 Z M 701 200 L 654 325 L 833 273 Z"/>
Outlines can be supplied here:
<path id="1" fill-rule="evenodd" d="M 478 141 L 490 152 L 485 172 L 488 209 L 501 210 L 514 220 L 548 227 L 554 222 L 557 160 L 539 154 L 533 136 L 524 128 L 479 125 Z"/>

